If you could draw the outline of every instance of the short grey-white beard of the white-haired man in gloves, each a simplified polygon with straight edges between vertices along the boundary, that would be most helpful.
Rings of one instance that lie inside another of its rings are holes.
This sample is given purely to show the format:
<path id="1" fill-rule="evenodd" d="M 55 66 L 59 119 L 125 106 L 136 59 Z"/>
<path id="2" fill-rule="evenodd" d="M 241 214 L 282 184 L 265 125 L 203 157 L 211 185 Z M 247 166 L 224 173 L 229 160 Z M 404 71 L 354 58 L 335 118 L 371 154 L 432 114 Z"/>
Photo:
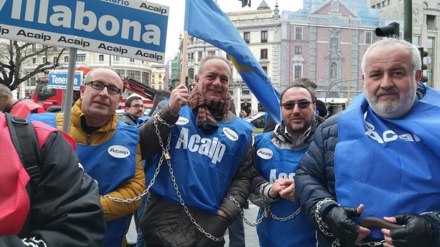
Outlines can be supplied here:
<path id="1" fill-rule="evenodd" d="M 411 85 L 412 85 L 411 88 L 406 94 L 400 94 L 399 92 L 399 98 L 396 101 L 392 101 L 392 102 L 389 101 L 391 103 L 387 101 L 382 101 L 382 103 L 379 103 L 378 96 L 374 94 L 373 95 L 368 94 L 364 89 L 365 98 L 371 109 L 378 116 L 383 118 L 390 118 L 390 119 L 400 118 L 406 115 L 406 113 L 408 113 L 411 110 L 412 106 L 415 103 L 416 87 L 414 83 L 412 83 Z M 388 103 L 388 104 L 384 106 L 383 103 Z"/>

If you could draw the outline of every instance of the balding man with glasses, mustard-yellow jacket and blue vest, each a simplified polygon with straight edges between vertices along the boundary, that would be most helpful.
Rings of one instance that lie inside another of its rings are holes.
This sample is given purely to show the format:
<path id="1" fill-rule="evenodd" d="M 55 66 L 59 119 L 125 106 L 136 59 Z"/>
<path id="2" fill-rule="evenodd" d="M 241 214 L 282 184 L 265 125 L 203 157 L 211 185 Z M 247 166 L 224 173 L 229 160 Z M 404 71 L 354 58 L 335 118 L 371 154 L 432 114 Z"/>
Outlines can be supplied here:
<path id="1" fill-rule="evenodd" d="M 142 194 L 145 184 L 139 132 L 135 126 L 118 121 L 115 112 L 122 87 L 122 80 L 111 68 L 93 69 L 79 87 L 81 98 L 70 116 L 69 135 L 76 143 L 79 162 L 99 188 L 107 221 L 104 247 L 125 246 L 125 216 L 140 206 L 140 200 L 121 203 L 103 196 L 132 199 Z M 62 113 L 41 113 L 30 114 L 28 119 L 61 129 L 62 117 Z"/>

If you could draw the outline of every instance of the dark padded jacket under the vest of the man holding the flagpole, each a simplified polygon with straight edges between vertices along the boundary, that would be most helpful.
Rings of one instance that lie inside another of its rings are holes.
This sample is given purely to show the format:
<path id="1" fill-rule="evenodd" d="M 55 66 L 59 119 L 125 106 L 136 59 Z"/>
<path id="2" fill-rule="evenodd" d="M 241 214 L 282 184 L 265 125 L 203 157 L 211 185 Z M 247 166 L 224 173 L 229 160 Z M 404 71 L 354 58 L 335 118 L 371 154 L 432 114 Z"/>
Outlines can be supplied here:
<path id="1" fill-rule="evenodd" d="M 174 124 L 178 115 L 174 116 L 167 106 L 163 106 L 163 101 L 157 105 L 157 114 L 168 124 Z M 153 115 L 155 115 L 155 113 Z M 237 116 L 228 112 L 222 119 L 223 122 L 231 121 Z M 158 129 L 162 140 L 167 140 L 169 127 L 158 122 Z M 161 150 L 158 138 L 153 125 L 153 117 L 139 126 L 140 131 L 140 149 L 142 159 L 149 159 Z M 238 166 L 237 171 L 229 185 L 225 198 L 220 203 L 219 210 L 226 213 L 228 219 L 213 215 L 204 211 L 189 208 L 191 215 L 196 222 L 202 226 L 209 234 L 219 237 L 227 229 L 230 221 L 235 220 L 239 215 L 239 209 L 235 204 L 227 199 L 227 196 L 233 197 L 239 204 L 243 205 L 247 201 L 250 187 L 250 169 L 251 169 L 251 142 Z M 178 164 L 176 164 L 178 165 Z M 166 163 L 162 164 L 160 169 L 167 169 Z M 148 181 L 146 182 L 148 183 Z M 153 185 L 154 186 L 154 185 Z M 213 242 L 201 234 L 194 224 L 192 224 L 183 207 L 161 200 L 160 197 L 148 194 L 148 200 L 139 222 L 140 230 L 146 238 L 148 244 L 172 246 L 172 247 L 215 247 L 223 246 L 223 243 Z"/>

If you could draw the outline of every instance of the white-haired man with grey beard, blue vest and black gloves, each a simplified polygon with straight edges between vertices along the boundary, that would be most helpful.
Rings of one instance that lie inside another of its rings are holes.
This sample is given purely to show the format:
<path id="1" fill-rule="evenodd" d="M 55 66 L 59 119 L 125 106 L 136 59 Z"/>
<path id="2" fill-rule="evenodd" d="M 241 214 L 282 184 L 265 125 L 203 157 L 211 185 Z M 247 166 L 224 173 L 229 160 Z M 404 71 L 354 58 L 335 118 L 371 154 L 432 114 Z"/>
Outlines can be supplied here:
<path id="1" fill-rule="evenodd" d="M 318 247 L 440 246 L 440 92 L 420 67 L 411 43 L 372 44 L 364 93 L 316 130 L 295 186 Z"/>

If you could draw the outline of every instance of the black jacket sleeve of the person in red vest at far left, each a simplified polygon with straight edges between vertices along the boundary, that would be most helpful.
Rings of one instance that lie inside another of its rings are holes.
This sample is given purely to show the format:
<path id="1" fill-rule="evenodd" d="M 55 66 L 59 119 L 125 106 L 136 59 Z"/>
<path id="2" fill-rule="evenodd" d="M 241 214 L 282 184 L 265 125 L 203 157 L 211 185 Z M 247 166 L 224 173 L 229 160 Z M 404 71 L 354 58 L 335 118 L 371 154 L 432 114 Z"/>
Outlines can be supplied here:
<path id="1" fill-rule="evenodd" d="M 23 227 L 28 231 L 22 230 L 20 236 L 0 236 L 0 247 L 29 246 L 22 239 L 32 237 L 47 247 L 101 247 L 105 218 L 98 188 L 79 167 L 75 152 L 61 133 L 54 132 L 40 155 L 41 180 L 32 187 L 29 222 Z"/>

